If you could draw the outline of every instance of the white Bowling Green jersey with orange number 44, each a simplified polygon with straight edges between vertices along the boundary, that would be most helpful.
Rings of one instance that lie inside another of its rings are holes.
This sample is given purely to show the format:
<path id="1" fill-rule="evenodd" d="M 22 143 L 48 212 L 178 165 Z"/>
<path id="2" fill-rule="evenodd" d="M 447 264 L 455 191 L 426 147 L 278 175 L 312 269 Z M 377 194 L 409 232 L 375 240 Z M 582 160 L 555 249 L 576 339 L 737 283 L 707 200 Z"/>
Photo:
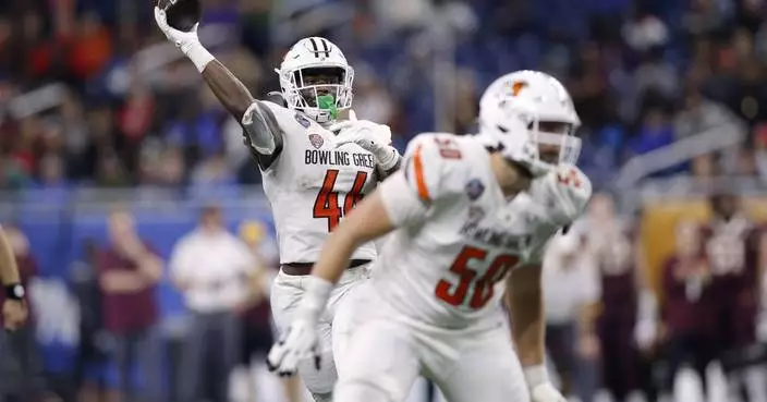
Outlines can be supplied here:
<path id="1" fill-rule="evenodd" d="M 282 149 L 263 172 L 280 263 L 315 263 L 330 231 L 375 188 L 376 158 L 356 144 L 336 148 L 336 135 L 299 111 L 260 103 L 282 131 Z M 375 257 L 368 243 L 352 258 Z"/>

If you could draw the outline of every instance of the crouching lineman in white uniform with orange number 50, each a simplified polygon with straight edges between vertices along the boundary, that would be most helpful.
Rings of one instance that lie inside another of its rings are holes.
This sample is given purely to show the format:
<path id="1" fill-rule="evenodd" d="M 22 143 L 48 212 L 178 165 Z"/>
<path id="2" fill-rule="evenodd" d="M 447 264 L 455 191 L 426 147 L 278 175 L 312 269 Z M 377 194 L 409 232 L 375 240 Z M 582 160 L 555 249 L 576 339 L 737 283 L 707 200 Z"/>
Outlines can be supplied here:
<path id="1" fill-rule="evenodd" d="M 392 232 L 372 280 L 344 305 L 354 322 L 336 402 L 403 401 L 418 375 L 451 402 L 564 401 L 544 366 L 540 263 L 592 194 L 573 166 L 580 119 L 557 80 L 522 71 L 490 85 L 479 122 L 479 136 L 413 139 L 403 170 L 330 235 L 269 353 L 277 370 L 317 355 L 316 322 L 343 267 Z"/>

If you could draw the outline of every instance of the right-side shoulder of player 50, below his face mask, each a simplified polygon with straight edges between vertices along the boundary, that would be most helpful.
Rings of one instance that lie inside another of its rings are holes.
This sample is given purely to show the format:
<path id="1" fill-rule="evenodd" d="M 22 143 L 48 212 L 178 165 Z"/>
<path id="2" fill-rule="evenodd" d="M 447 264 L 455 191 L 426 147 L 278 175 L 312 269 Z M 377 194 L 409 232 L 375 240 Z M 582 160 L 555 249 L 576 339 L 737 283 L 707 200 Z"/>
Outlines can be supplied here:
<path id="1" fill-rule="evenodd" d="M 561 166 L 539 179 L 534 191 L 543 197 L 547 212 L 558 226 L 569 226 L 586 208 L 592 197 L 592 181 L 574 166 Z"/>

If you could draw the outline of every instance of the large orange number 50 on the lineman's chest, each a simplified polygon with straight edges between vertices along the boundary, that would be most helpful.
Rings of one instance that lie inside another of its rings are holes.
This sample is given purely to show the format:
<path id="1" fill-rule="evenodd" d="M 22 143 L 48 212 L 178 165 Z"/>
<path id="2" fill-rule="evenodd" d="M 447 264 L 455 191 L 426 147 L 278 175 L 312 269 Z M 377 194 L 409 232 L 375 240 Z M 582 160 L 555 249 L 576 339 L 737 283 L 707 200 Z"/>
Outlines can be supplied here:
<path id="1" fill-rule="evenodd" d="M 477 272 L 468 268 L 467 264 L 472 259 L 484 261 L 486 257 L 487 252 L 484 249 L 472 246 L 463 247 L 450 267 L 450 271 L 459 277 L 458 285 L 453 287 L 448 280 L 442 279 L 435 289 L 437 299 L 451 306 L 460 306 L 466 301 L 468 290 L 474 288 L 474 292 L 468 300 L 468 306 L 473 309 L 485 307 L 487 302 L 492 299 L 494 285 L 502 280 L 509 269 L 514 267 L 520 260 L 515 256 L 500 255 L 492 260 L 487 272 L 475 280 Z"/>

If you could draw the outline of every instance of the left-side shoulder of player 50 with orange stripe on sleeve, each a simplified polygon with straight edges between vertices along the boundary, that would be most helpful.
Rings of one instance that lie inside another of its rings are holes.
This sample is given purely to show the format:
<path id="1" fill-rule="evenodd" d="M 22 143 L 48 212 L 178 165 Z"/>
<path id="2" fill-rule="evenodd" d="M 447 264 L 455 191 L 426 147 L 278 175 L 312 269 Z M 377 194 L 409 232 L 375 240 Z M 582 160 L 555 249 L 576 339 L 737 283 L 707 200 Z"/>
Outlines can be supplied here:
<path id="1" fill-rule="evenodd" d="M 404 155 L 407 182 L 425 204 L 449 192 L 461 171 L 463 155 L 451 134 L 419 134 L 407 144 Z"/>

